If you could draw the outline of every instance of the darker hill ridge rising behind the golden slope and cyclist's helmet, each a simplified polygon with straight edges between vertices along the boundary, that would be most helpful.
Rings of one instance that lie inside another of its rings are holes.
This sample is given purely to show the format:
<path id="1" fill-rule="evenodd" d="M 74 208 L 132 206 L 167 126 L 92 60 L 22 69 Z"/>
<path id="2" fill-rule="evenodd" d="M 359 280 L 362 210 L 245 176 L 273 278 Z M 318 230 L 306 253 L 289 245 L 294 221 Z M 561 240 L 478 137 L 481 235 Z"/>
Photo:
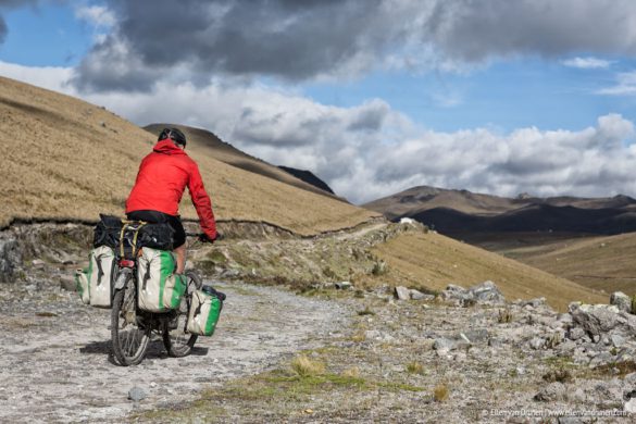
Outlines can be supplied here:
<path id="1" fill-rule="evenodd" d="M 271 165 L 265 161 L 262 161 L 258 158 L 254 158 L 238 150 L 237 148 L 235 148 L 230 144 L 223 141 L 209 130 L 175 124 L 151 124 L 145 126 L 144 128 L 152 134 L 159 134 L 161 129 L 165 127 L 177 127 L 180 130 L 183 130 L 188 140 L 188 149 L 190 148 L 208 149 L 209 150 L 208 154 L 211 154 L 214 159 L 221 162 L 275 179 L 280 183 L 289 184 L 294 187 L 298 187 L 303 190 L 342 200 L 331 192 L 321 190 L 320 188 L 311 184 L 304 183 L 303 180 L 295 177 L 294 175 L 289 174 L 288 172 L 285 172 L 284 170 L 280 170 L 277 166 Z"/>

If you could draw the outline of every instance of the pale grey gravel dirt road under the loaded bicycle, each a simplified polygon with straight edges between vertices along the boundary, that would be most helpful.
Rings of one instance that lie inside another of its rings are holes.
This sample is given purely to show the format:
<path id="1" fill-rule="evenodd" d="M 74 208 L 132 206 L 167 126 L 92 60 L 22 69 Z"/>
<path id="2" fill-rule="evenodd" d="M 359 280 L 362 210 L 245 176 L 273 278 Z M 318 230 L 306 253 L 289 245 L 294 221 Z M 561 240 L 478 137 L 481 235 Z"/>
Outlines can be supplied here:
<path id="1" fill-rule="evenodd" d="M 338 333 L 352 315 L 288 291 L 213 283 L 228 295 L 219 329 L 187 358 L 157 339 L 137 366 L 110 357 L 110 311 L 83 305 L 51 283 L 0 290 L 0 422 L 121 421 L 139 409 L 197 398 L 209 385 L 258 373 Z M 147 398 L 128 400 L 133 387 Z"/>

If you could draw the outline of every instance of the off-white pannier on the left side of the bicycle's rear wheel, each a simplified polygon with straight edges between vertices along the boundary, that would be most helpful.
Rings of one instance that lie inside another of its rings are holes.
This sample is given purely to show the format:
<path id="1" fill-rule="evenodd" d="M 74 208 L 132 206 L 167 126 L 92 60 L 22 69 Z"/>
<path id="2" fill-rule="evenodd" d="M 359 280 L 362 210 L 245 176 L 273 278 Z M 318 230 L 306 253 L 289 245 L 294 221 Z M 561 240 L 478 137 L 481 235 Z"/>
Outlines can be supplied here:
<path id="1" fill-rule="evenodd" d="M 88 296 L 92 307 L 111 308 L 114 274 L 114 250 L 108 246 L 100 246 L 92 249 L 90 251 L 88 272 L 86 274 L 86 278 L 88 279 Z M 82 292 L 80 296 L 84 300 L 86 295 Z"/>

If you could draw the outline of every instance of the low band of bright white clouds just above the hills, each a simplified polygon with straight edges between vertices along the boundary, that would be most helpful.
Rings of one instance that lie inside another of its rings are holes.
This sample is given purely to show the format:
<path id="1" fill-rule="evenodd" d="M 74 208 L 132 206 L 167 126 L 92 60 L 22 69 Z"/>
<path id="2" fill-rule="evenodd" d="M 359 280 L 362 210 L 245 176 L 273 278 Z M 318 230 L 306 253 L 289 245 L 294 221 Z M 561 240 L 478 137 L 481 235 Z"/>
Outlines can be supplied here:
<path id="1" fill-rule="evenodd" d="M 279 86 L 227 85 L 222 78 L 205 86 L 161 80 L 147 92 L 78 93 L 66 83 L 71 73 L 0 62 L 2 75 L 79 95 L 138 125 L 210 129 L 271 163 L 311 170 L 354 202 L 417 185 L 500 196 L 636 197 L 636 130 L 619 114 L 579 130 L 445 133 L 419 126 L 379 99 L 337 108 Z"/>

